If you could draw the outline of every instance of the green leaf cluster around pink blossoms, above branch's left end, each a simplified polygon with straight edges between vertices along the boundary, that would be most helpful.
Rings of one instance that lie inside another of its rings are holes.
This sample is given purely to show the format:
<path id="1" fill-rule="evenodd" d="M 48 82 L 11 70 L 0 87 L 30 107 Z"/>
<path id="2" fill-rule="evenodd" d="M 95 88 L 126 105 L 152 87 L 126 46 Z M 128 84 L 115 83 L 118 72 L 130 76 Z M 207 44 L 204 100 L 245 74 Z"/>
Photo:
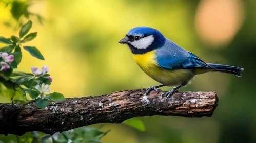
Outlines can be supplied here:
<path id="1" fill-rule="evenodd" d="M 19 30 L 19 36 L 12 35 L 10 38 L 0 37 L 0 42 L 6 44 L 6 46 L 0 48 L 1 53 L 8 53 L 14 56 L 14 61 L 11 62 L 10 68 L 0 71 L 0 83 L 8 89 L 13 89 L 14 93 L 11 98 L 12 103 L 24 103 L 28 101 L 27 95 L 31 99 L 36 101 L 36 105 L 40 108 L 45 108 L 48 105 L 49 100 L 64 101 L 63 94 L 53 92 L 48 95 L 40 93 L 35 86 L 36 85 L 50 85 L 51 82 L 48 79 L 49 74 L 45 75 L 33 75 L 30 73 L 14 72 L 13 69 L 18 67 L 18 64 L 22 60 L 22 50 L 28 51 L 33 57 L 44 60 L 43 55 L 35 46 L 24 46 L 23 44 L 33 40 L 37 36 L 37 32 L 29 33 L 32 27 L 32 21 L 28 21 Z M 28 34 L 29 33 L 29 34 Z M 1 54 L 0 53 L 0 54 Z M 0 62 L 3 61 L 0 58 Z M 18 93 L 17 93 L 18 92 Z"/>

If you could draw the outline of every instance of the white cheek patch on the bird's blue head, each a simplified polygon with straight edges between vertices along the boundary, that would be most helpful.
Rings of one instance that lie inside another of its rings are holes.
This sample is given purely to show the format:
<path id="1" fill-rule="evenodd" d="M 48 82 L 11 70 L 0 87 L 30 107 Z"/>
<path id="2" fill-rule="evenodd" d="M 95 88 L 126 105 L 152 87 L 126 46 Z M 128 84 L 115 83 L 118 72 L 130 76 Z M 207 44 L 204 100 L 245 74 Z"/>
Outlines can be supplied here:
<path id="1" fill-rule="evenodd" d="M 140 40 L 133 41 L 130 44 L 136 47 L 137 49 L 146 49 L 154 41 L 153 35 L 141 38 Z"/>

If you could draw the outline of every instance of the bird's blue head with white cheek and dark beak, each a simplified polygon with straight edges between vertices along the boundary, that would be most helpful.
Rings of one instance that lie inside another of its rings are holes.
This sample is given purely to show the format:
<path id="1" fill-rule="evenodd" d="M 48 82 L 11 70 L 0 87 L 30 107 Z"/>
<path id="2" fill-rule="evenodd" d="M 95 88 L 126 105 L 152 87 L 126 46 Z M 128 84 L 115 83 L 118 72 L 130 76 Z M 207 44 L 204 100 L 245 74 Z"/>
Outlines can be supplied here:
<path id="1" fill-rule="evenodd" d="M 127 44 L 133 54 L 145 54 L 165 43 L 165 37 L 158 30 L 149 27 L 131 29 L 119 43 Z"/>

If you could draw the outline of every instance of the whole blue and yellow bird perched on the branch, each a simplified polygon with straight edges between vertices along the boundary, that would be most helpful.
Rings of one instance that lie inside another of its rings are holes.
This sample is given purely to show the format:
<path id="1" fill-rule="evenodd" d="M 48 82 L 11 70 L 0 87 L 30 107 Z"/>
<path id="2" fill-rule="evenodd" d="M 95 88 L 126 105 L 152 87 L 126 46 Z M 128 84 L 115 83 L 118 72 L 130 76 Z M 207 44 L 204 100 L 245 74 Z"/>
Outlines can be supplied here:
<path id="1" fill-rule="evenodd" d="M 145 74 L 161 83 L 147 88 L 145 95 L 151 90 L 159 93 L 157 88 L 163 86 L 174 87 L 161 94 L 167 97 L 166 100 L 196 75 L 219 71 L 241 77 L 240 71 L 244 70 L 230 65 L 205 63 L 198 56 L 166 38 L 160 31 L 150 27 L 132 28 L 119 43 L 127 44 L 137 65 Z"/>

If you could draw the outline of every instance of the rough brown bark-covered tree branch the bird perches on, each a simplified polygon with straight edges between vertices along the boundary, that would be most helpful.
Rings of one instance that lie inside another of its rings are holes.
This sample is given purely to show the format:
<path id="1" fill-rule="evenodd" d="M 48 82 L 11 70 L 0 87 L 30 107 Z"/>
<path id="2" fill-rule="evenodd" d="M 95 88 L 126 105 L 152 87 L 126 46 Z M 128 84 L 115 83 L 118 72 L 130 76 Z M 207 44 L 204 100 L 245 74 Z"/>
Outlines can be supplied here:
<path id="1" fill-rule="evenodd" d="M 35 102 L 27 104 L 0 103 L 0 134 L 23 135 L 41 131 L 46 134 L 63 132 L 96 123 L 122 123 L 137 116 L 210 117 L 217 106 L 215 92 L 176 92 L 166 101 L 145 89 L 118 91 L 103 96 L 68 98 L 50 102 L 45 109 Z"/>

